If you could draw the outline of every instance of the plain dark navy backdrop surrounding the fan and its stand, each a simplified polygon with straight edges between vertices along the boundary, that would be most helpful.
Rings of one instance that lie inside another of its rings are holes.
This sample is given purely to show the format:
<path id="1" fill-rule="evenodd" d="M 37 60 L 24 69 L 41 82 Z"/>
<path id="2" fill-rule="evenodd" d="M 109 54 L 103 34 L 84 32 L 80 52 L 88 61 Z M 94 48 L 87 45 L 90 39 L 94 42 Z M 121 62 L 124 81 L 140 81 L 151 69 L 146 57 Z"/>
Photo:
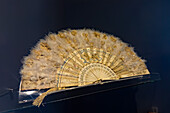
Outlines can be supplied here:
<path id="1" fill-rule="evenodd" d="M 170 113 L 170 2 L 167 0 L 0 0 L 0 91 L 19 86 L 23 56 L 49 32 L 94 28 L 135 47 L 161 81 L 22 112 Z M 17 105 L 0 97 L 0 111 Z"/>

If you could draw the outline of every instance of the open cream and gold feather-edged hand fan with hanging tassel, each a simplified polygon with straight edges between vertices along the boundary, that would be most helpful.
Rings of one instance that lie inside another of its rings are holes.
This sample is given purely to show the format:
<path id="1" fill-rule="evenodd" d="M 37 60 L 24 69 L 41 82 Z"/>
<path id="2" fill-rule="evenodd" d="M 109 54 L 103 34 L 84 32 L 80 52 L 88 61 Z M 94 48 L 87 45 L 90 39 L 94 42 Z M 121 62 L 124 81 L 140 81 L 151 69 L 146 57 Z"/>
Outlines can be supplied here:
<path id="1" fill-rule="evenodd" d="M 21 90 L 47 89 L 100 83 L 149 74 L 133 48 L 113 35 L 90 29 L 64 30 L 41 39 L 24 58 Z"/>

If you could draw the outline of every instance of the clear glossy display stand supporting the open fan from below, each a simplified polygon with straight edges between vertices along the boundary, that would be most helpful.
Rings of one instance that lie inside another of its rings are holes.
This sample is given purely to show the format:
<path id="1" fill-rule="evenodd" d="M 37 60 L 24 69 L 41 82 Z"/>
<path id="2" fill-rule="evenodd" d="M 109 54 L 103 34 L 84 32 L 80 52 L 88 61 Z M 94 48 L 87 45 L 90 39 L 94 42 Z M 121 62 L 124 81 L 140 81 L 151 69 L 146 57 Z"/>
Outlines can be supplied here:
<path id="1" fill-rule="evenodd" d="M 69 89 L 55 91 L 50 93 L 43 101 L 43 105 L 48 105 L 52 103 L 56 103 L 59 101 L 64 101 L 67 99 L 72 99 L 81 96 L 92 95 L 95 93 L 101 93 L 109 90 L 116 90 L 120 88 L 133 87 L 145 83 L 152 83 L 160 80 L 160 75 L 157 73 L 148 74 L 148 75 L 140 75 L 129 78 L 122 78 L 119 80 L 105 80 L 100 83 L 80 86 L 80 87 L 71 87 Z M 32 105 L 33 100 L 38 97 L 42 92 L 46 90 L 36 90 L 36 91 L 18 91 L 18 103 L 14 108 L 6 109 L 0 111 L 0 113 L 8 113 L 8 112 L 16 112 L 20 110 L 24 110 L 26 108 L 37 108 Z"/>

